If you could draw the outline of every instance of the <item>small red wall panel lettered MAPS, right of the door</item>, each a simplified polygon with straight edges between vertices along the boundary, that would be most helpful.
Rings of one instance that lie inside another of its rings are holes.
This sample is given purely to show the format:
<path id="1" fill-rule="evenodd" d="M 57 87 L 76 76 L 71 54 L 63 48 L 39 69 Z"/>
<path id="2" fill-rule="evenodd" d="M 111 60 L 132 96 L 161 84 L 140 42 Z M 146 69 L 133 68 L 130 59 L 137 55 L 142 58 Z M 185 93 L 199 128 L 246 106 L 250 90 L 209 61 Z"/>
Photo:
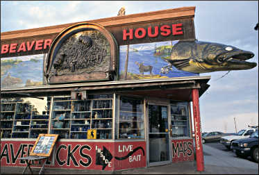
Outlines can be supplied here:
<path id="1" fill-rule="evenodd" d="M 172 162 L 180 163 L 194 160 L 193 140 L 172 140 Z"/>

